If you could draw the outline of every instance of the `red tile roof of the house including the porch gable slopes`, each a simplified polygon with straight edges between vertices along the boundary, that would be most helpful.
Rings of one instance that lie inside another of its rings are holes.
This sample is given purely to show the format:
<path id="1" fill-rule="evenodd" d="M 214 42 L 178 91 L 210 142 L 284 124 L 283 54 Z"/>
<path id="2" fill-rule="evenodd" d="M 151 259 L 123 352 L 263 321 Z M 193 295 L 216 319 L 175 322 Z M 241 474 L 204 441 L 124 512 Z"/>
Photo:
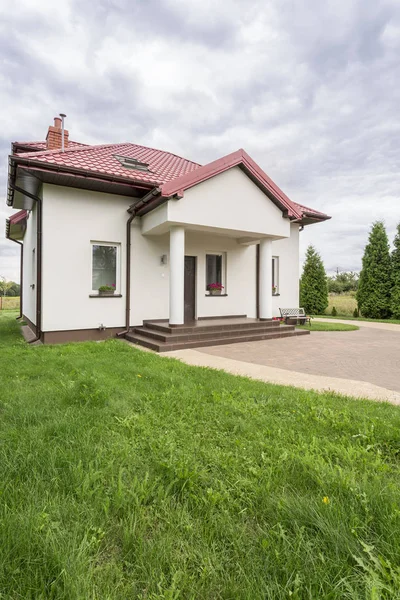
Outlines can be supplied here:
<path id="1" fill-rule="evenodd" d="M 87 146 L 79 142 L 70 142 L 64 152 L 61 150 L 38 151 L 41 145 L 45 146 L 45 142 L 18 142 L 16 145 L 35 148 L 34 152 L 14 155 L 18 162 L 28 164 L 28 166 L 40 168 L 47 166 L 49 169 L 57 169 L 60 172 L 82 171 L 86 176 L 101 175 L 110 179 L 118 178 L 132 184 L 144 184 L 149 188 L 158 186 L 164 197 L 170 197 L 218 173 L 239 166 L 268 196 L 273 198 L 283 211 L 287 212 L 290 218 L 301 219 L 303 216 L 321 220 L 330 218 L 290 200 L 242 149 L 201 166 L 171 152 L 132 143 Z M 148 168 L 141 170 L 124 166 L 118 157 L 137 160 L 147 164 Z"/>

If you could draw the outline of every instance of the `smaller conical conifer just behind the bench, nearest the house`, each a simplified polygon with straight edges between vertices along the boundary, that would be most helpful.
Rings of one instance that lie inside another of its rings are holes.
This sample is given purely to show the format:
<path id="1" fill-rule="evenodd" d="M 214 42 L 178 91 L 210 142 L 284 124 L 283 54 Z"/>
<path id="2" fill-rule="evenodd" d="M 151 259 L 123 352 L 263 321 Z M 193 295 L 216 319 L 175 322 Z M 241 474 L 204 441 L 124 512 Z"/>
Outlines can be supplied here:
<path id="1" fill-rule="evenodd" d="M 300 304 L 306 312 L 322 315 L 328 306 L 324 264 L 314 246 L 308 246 L 300 281 Z"/>

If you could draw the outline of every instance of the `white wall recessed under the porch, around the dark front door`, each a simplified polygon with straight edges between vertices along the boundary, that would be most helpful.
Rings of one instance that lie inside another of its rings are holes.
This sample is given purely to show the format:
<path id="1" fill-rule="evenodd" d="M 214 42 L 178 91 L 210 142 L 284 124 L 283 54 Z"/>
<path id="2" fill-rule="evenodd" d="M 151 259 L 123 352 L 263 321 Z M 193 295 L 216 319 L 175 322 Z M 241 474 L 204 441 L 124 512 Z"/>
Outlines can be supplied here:
<path id="1" fill-rule="evenodd" d="M 135 223 L 135 222 L 134 222 Z M 227 296 L 206 292 L 205 257 L 226 253 Z M 167 255 L 168 264 L 161 264 Z M 195 231 L 185 232 L 185 254 L 197 257 L 196 316 L 256 315 L 256 247 L 235 239 Z M 169 316 L 169 234 L 143 236 L 140 223 L 132 226 L 131 325 Z"/>

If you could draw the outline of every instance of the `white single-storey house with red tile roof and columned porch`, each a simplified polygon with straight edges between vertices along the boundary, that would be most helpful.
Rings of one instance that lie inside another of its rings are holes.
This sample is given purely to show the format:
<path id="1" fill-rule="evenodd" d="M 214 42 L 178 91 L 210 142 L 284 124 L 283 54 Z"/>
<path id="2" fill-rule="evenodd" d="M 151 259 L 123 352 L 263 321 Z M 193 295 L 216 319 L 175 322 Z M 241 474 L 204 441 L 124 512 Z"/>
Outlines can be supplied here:
<path id="1" fill-rule="evenodd" d="M 58 117 L 46 141 L 12 144 L 7 203 L 20 209 L 6 235 L 21 245 L 34 339 L 127 334 L 161 350 L 202 345 L 195 334 L 293 334 L 271 320 L 298 306 L 300 232 L 329 219 L 290 200 L 244 150 L 201 166 L 133 143 L 70 141 Z"/>

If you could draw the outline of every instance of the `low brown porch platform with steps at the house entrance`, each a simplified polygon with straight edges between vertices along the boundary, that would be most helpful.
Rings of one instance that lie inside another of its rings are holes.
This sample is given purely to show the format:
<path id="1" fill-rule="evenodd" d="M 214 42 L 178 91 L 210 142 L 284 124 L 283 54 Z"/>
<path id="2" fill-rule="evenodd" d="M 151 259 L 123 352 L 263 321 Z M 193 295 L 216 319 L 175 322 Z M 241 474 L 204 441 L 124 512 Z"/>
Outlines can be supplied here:
<path id="1" fill-rule="evenodd" d="M 179 326 L 171 326 L 167 320 L 146 321 L 142 327 L 134 327 L 125 337 L 156 352 L 169 352 L 307 334 L 309 331 L 296 330 L 293 325 L 281 325 L 277 320 L 260 321 L 238 316 L 199 319 Z"/>

